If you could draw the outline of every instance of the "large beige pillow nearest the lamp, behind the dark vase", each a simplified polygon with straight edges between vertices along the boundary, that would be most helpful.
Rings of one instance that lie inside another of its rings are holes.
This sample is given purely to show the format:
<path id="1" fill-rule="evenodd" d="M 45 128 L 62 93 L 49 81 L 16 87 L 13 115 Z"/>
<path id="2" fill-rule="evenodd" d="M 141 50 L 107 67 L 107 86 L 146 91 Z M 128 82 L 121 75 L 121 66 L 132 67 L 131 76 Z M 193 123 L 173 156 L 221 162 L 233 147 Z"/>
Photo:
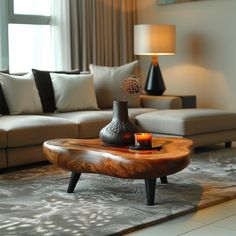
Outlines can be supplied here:
<path id="1" fill-rule="evenodd" d="M 122 90 L 122 81 L 135 73 L 138 61 L 119 67 L 89 66 L 94 78 L 94 87 L 99 108 L 112 108 L 113 101 L 127 100 L 129 107 L 140 107 L 139 96 L 126 95 Z"/>

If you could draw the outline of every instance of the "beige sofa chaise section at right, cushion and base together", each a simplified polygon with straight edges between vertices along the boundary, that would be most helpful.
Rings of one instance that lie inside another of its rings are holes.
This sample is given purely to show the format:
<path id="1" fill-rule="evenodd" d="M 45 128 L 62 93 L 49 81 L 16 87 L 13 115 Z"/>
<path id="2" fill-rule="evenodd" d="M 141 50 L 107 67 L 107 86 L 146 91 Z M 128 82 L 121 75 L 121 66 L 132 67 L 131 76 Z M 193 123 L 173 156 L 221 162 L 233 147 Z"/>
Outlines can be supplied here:
<path id="1" fill-rule="evenodd" d="M 236 113 L 216 109 L 159 110 L 136 116 L 145 132 L 192 139 L 194 146 L 236 140 Z"/>

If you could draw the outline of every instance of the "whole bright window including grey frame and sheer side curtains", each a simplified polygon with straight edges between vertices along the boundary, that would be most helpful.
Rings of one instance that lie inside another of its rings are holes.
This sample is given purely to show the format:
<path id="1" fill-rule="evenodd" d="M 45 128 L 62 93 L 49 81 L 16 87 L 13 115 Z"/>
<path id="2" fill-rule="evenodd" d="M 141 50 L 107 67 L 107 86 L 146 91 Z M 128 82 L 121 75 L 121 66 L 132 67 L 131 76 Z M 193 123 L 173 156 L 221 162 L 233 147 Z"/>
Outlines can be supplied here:
<path id="1" fill-rule="evenodd" d="M 71 69 L 68 0 L 0 0 L 0 69 Z"/>

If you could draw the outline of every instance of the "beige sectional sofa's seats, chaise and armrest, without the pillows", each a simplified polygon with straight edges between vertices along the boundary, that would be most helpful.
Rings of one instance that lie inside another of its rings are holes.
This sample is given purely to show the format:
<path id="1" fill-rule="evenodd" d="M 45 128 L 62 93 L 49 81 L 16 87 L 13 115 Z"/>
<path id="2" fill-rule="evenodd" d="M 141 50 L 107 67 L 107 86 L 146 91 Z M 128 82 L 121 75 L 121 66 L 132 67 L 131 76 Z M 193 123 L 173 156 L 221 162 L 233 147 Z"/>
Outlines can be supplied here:
<path id="1" fill-rule="evenodd" d="M 178 97 L 141 96 L 140 108 L 129 108 L 130 120 L 154 135 L 194 140 L 195 146 L 236 140 L 236 115 L 211 109 L 180 109 Z M 44 141 L 97 138 L 111 121 L 112 110 L 88 110 L 0 117 L 0 169 L 46 160 Z"/>

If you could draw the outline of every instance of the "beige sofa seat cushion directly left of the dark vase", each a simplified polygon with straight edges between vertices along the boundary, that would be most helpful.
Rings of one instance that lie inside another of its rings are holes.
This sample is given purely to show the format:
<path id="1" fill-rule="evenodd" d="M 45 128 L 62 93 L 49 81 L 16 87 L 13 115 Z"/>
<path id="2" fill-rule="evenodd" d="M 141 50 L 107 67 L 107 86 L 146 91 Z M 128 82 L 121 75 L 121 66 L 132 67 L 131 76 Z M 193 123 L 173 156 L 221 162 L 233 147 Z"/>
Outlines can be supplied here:
<path id="1" fill-rule="evenodd" d="M 100 130 L 112 119 L 112 110 L 76 111 L 50 114 L 75 122 L 78 125 L 78 138 L 97 138 Z"/>

